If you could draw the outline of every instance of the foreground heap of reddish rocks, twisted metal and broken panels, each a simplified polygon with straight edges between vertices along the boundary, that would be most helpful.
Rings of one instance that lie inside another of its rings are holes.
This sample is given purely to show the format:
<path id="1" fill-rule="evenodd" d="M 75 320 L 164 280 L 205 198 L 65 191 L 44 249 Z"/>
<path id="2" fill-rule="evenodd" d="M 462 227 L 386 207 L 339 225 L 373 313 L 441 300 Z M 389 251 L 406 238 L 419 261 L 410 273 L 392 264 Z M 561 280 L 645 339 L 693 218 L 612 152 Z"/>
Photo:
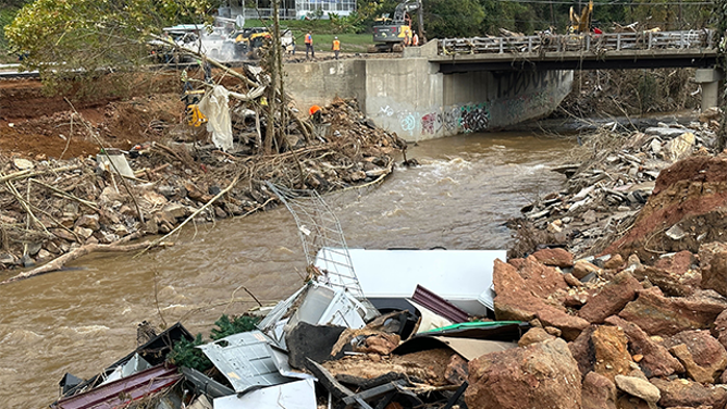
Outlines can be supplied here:
<path id="1" fill-rule="evenodd" d="M 51 407 L 724 408 L 724 260 L 723 243 L 653 265 L 563 249 L 497 259 L 498 321 L 421 287 L 383 308 L 311 265 L 297 293 L 251 312 L 264 317 L 252 331 L 202 344 L 176 324 L 98 376 L 66 375 Z"/>

